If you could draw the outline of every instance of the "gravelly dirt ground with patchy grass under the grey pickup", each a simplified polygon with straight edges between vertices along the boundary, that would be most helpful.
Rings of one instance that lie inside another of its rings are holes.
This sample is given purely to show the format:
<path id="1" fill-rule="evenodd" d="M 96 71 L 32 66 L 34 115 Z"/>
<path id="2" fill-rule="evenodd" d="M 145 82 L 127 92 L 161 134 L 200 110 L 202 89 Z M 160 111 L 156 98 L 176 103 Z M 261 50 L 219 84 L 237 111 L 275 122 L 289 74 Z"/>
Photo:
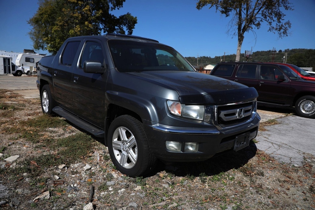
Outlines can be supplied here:
<path id="1" fill-rule="evenodd" d="M 254 140 L 238 152 L 158 163 L 146 177 L 129 178 L 115 169 L 102 139 L 42 116 L 38 98 L 0 90 L 0 107 L 2 209 L 315 208 L 310 155 L 302 167 L 289 166 L 257 150 Z M 19 157 L 5 161 L 12 156 Z"/>

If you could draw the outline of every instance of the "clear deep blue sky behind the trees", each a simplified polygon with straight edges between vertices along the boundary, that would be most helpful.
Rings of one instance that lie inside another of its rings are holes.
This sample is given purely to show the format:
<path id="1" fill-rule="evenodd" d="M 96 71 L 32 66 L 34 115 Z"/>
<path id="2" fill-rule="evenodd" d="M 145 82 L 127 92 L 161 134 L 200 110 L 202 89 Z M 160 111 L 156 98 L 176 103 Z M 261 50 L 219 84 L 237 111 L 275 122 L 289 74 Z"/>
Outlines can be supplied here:
<path id="1" fill-rule="evenodd" d="M 315 49 L 315 0 L 289 0 L 293 11 L 284 11 L 285 20 L 290 20 L 290 36 L 278 39 L 277 34 L 268 32 L 264 24 L 246 33 L 242 45 L 245 50 L 284 50 L 293 48 Z M 113 12 L 116 16 L 127 12 L 136 16 L 133 35 L 156 39 L 167 44 L 185 57 L 220 56 L 236 54 L 237 37 L 226 33 L 229 18 L 215 9 L 196 9 L 197 0 L 126 0 L 123 8 Z M 31 26 L 27 24 L 37 11 L 37 0 L 0 0 L 0 50 L 23 52 L 33 49 L 27 35 Z M 6 9 L 4 9 L 6 8 Z M 47 53 L 47 51 L 36 51 Z"/>

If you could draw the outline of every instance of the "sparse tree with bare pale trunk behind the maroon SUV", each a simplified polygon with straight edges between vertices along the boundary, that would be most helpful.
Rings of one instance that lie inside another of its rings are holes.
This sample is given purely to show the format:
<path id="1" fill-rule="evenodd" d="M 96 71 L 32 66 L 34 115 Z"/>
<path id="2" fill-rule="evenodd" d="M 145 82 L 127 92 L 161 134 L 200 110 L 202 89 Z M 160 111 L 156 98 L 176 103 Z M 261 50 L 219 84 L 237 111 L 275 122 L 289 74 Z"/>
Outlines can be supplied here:
<path id="1" fill-rule="evenodd" d="M 254 32 L 263 22 L 269 26 L 268 31 L 277 32 L 280 38 L 288 36 L 291 23 L 284 22 L 281 9 L 293 10 L 290 4 L 288 0 L 199 0 L 197 9 L 208 5 L 209 9 L 214 7 L 216 12 L 232 18 L 228 33 L 234 31 L 232 36 L 238 36 L 235 60 L 239 61 L 245 32 Z"/>

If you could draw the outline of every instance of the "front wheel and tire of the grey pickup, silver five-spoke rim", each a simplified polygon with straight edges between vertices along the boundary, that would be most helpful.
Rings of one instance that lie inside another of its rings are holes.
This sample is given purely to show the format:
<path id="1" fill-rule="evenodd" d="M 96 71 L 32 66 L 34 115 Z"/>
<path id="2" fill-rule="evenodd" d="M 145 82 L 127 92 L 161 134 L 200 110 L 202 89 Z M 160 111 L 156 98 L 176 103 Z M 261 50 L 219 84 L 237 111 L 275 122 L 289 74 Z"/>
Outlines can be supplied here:
<path id="1" fill-rule="evenodd" d="M 113 164 L 129 177 L 149 173 L 156 164 L 143 124 L 132 116 L 118 116 L 112 122 L 107 145 Z"/>

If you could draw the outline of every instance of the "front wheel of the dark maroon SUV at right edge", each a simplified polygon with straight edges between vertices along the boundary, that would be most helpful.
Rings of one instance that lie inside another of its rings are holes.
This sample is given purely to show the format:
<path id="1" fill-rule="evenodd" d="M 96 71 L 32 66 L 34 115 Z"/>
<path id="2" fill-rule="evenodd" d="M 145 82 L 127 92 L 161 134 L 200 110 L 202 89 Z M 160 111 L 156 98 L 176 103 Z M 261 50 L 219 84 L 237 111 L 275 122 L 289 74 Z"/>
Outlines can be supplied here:
<path id="1" fill-rule="evenodd" d="M 295 111 L 301 117 L 315 118 L 315 97 L 305 95 L 295 103 Z"/>

